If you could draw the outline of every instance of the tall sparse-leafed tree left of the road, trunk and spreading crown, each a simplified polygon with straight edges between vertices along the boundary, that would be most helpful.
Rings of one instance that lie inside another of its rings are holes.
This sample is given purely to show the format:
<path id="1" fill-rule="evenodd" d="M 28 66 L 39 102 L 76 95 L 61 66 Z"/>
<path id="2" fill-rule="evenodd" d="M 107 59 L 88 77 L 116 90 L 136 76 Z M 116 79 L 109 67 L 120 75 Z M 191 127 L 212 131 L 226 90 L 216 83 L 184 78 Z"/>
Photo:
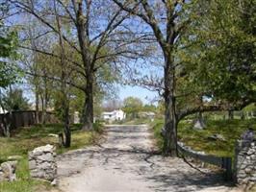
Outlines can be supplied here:
<path id="1" fill-rule="evenodd" d="M 51 9 L 52 0 L 47 1 L 47 4 L 33 1 L 33 9 L 25 1 L 12 0 L 11 2 L 16 9 L 34 15 L 51 33 L 58 34 L 58 27 L 51 17 L 54 15 L 54 11 Z M 130 36 L 134 35 L 131 35 L 130 31 L 121 25 L 129 17 L 129 13 L 121 12 L 112 1 L 57 0 L 56 4 L 60 10 L 58 12 L 60 20 L 63 20 L 61 24 L 69 26 L 68 30 L 63 27 L 64 43 L 80 56 L 81 62 L 69 58 L 65 58 L 65 60 L 72 64 L 73 70 L 76 70 L 80 78 L 83 79 L 83 84 L 72 83 L 72 85 L 85 94 L 83 129 L 91 130 L 94 84 L 99 83 L 97 72 L 106 65 L 112 65 L 114 72 L 117 68 L 116 65 L 121 63 L 120 59 L 135 59 L 140 56 L 140 52 L 131 49 Z M 135 36 L 136 39 L 145 37 L 144 34 Z M 138 42 L 136 39 L 133 40 L 133 43 Z M 30 49 L 61 58 L 60 55 L 49 53 L 45 49 L 31 47 Z M 106 52 L 106 50 L 108 51 Z"/>

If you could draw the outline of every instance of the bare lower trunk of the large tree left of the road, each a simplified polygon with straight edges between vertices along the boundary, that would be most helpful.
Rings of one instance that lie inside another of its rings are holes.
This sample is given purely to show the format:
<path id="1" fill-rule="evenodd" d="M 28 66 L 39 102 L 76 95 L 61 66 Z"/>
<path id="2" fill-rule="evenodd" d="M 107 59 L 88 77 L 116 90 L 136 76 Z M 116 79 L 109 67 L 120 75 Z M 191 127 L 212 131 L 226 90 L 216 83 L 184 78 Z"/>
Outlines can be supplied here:
<path id="1" fill-rule="evenodd" d="M 93 82 L 88 79 L 86 87 L 86 98 L 83 112 L 83 128 L 82 130 L 92 130 L 93 128 Z"/>

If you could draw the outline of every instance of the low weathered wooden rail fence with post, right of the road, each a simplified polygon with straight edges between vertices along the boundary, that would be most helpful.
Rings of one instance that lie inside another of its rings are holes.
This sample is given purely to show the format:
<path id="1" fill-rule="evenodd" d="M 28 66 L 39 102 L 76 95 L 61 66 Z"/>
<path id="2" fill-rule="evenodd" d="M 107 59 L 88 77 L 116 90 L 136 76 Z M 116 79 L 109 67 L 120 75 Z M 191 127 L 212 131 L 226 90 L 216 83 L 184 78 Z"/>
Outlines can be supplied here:
<path id="1" fill-rule="evenodd" d="M 189 150 L 181 143 L 178 143 L 178 151 L 184 156 L 191 156 L 203 162 L 213 164 L 225 170 L 225 179 L 233 180 L 232 158 L 228 156 L 211 156 Z"/>

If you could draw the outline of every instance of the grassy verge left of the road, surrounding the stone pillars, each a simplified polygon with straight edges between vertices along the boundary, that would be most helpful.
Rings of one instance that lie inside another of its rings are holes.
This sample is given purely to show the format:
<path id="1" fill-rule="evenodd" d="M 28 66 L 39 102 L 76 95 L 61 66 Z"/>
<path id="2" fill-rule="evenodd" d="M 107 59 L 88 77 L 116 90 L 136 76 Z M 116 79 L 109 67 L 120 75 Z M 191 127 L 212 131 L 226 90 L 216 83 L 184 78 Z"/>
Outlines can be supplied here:
<path id="1" fill-rule="evenodd" d="M 0 137 L 0 163 L 6 161 L 8 156 L 22 156 L 23 158 L 17 164 L 17 179 L 13 182 L 0 182 L 1 192 L 34 192 L 39 188 L 46 191 L 51 188 L 49 184 L 38 180 L 32 180 L 28 169 L 28 152 L 34 148 L 46 144 L 53 144 L 57 147 L 57 153 L 62 154 L 69 150 L 79 149 L 98 141 L 102 126 L 94 125 L 94 131 L 82 132 L 81 125 L 71 127 L 72 143 L 68 149 L 60 148 L 58 138 L 49 134 L 63 132 L 62 125 L 45 125 L 22 128 L 13 132 L 12 138 Z M 41 186 L 41 187 L 40 187 Z"/>

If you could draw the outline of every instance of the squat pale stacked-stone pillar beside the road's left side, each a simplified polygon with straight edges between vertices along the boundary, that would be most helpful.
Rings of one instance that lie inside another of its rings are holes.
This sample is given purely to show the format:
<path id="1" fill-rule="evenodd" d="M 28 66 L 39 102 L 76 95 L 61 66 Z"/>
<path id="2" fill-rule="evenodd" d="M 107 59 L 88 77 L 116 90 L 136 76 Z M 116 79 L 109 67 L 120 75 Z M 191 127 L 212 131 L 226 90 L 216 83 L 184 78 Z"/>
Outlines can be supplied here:
<path id="1" fill-rule="evenodd" d="M 32 178 L 55 181 L 57 178 L 55 148 L 46 145 L 29 152 L 29 169 Z"/>

